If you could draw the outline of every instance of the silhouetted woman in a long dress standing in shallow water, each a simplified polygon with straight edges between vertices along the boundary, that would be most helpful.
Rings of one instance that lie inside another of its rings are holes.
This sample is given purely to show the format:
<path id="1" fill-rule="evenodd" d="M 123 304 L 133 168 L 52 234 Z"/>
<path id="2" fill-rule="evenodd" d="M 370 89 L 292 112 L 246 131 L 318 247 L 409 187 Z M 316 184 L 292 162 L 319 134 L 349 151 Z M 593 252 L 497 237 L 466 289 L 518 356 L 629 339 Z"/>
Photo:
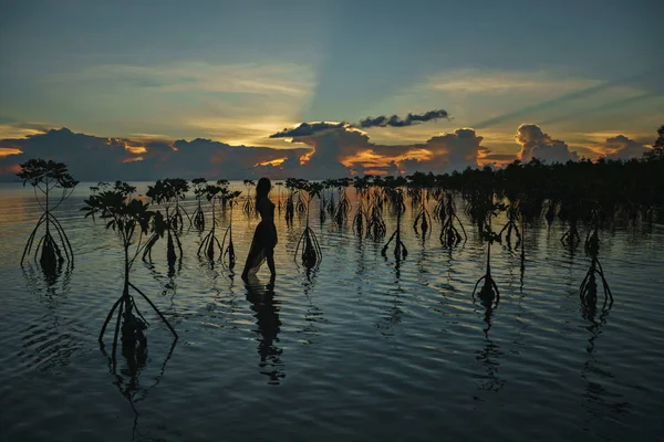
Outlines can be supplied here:
<path id="1" fill-rule="evenodd" d="M 274 278 L 274 246 L 277 245 L 277 228 L 274 227 L 274 203 L 268 198 L 272 185 L 267 178 L 258 180 L 256 186 L 256 211 L 260 213 L 260 222 L 256 227 L 253 241 L 247 255 L 242 280 L 255 275 L 262 263 L 268 261 L 271 277 Z"/>

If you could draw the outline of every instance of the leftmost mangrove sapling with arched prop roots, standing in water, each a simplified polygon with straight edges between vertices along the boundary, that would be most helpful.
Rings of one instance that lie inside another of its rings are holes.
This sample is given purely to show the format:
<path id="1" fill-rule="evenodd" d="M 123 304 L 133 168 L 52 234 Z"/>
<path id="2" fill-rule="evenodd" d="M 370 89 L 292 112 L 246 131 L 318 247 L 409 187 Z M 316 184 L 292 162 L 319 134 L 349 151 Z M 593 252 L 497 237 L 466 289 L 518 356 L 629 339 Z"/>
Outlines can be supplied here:
<path id="1" fill-rule="evenodd" d="M 75 181 L 72 178 L 64 164 L 52 160 L 46 161 L 43 159 L 30 159 L 27 162 L 23 162 L 21 165 L 21 171 L 17 175 L 23 180 L 23 186 L 25 186 L 27 182 L 30 182 L 34 189 L 34 198 L 37 199 L 40 208 L 43 210 L 42 215 L 37 221 L 37 225 L 28 238 L 28 243 L 25 244 L 25 249 L 23 249 L 23 255 L 21 256 L 21 265 L 23 265 L 25 255 L 32 251 L 34 236 L 42 224 L 45 228 L 45 232 L 44 235 L 38 241 L 34 249 L 34 262 L 38 262 L 39 256 L 39 263 L 42 265 L 42 267 L 55 269 L 64 261 L 64 257 L 62 256 L 62 251 L 64 251 L 64 255 L 73 265 L 74 251 L 72 250 L 72 245 L 70 244 L 66 233 L 64 233 L 64 229 L 62 229 L 60 221 L 58 221 L 52 212 L 58 209 L 62 201 L 72 194 L 74 187 L 79 183 L 79 181 Z M 43 204 L 39 194 L 37 193 L 38 189 L 44 194 Z M 51 197 L 56 189 L 60 189 L 61 193 L 59 194 L 58 201 L 53 204 L 51 202 Z M 53 238 L 53 233 L 51 232 L 52 230 L 58 234 L 60 244 L 55 238 Z"/>

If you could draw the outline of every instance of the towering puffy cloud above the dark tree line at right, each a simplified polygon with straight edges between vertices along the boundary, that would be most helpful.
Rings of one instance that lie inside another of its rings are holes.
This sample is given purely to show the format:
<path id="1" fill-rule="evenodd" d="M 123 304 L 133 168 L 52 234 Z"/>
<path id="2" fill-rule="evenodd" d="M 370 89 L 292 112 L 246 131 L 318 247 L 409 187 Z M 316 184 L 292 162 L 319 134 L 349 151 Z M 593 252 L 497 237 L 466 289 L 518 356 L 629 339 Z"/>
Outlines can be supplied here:
<path id="1" fill-rule="evenodd" d="M 577 161 L 579 159 L 578 154 L 570 151 L 564 141 L 551 138 L 538 125 L 522 124 L 517 129 L 515 139 L 521 145 L 519 158 L 525 162 L 530 161 L 532 158 L 549 164 Z"/>

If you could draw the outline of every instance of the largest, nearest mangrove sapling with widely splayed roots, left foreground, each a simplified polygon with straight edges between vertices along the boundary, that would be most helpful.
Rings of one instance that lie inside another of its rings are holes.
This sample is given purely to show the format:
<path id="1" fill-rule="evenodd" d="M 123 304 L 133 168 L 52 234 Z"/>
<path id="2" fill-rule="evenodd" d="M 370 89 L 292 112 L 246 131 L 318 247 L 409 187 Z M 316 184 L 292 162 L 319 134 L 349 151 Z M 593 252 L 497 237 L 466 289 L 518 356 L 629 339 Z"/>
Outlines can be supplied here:
<path id="1" fill-rule="evenodd" d="M 166 228 L 166 223 L 159 212 L 154 212 L 148 209 L 147 203 L 132 198 L 132 193 L 136 188 L 128 186 L 126 182 L 117 182 L 112 190 L 102 190 L 92 194 L 85 200 L 85 217 L 98 214 L 100 218 L 108 220 L 106 229 L 113 229 L 122 240 L 124 249 L 124 286 L 122 296 L 115 302 L 111 312 L 104 320 L 100 333 L 98 341 L 103 345 L 104 332 L 108 322 L 113 317 L 113 313 L 117 309 L 117 322 L 115 324 L 115 335 L 113 337 L 113 360 L 115 361 L 115 348 L 117 345 L 117 335 L 122 323 L 122 341 L 123 351 L 132 354 L 143 354 L 146 351 L 147 339 L 143 330 L 147 327 L 147 322 L 138 311 L 134 296 L 129 294 L 129 288 L 138 293 L 149 304 L 149 306 L 159 315 L 162 320 L 170 329 L 177 339 L 177 333 L 170 326 L 170 323 L 164 317 L 162 312 L 153 304 L 153 302 L 129 282 L 129 271 L 136 257 L 148 245 L 149 242 L 144 242 L 152 229 L 154 233 L 159 233 Z M 138 239 L 135 239 L 135 233 L 138 232 Z M 129 249 L 133 249 L 129 253 Z"/>

